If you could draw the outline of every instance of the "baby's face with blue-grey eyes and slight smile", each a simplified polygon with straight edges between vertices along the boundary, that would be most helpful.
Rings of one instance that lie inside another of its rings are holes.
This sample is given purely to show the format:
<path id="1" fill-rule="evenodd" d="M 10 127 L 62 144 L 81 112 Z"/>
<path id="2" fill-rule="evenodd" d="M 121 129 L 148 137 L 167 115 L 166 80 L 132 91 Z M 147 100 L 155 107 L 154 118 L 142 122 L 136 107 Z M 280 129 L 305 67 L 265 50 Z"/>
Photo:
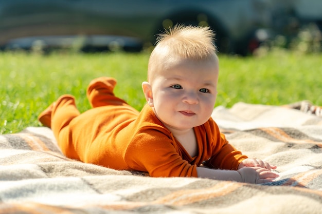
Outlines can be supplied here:
<path id="1" fill-rule="evenodd" d="M 204 124 L 217 97 L 218 62 L 181 61 L 157 71 L 151 82 L 151 102 L 157 118 L 170 129 Z"/>

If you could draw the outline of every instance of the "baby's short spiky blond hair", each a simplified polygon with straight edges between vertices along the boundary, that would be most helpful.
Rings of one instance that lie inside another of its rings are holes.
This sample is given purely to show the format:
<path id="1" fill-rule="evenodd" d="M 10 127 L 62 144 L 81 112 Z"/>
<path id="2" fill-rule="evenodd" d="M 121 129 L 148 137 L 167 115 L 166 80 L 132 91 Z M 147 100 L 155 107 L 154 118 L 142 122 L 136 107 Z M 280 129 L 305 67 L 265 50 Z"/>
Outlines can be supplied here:
<path id="1" fill-rule="evenodd" d="M 158 35 L 149 59 L 148 79 L 156 70 L 165 69 L 177 60 L 216 60 L 216 52 L 210 27 L 175 25 Z"/>

